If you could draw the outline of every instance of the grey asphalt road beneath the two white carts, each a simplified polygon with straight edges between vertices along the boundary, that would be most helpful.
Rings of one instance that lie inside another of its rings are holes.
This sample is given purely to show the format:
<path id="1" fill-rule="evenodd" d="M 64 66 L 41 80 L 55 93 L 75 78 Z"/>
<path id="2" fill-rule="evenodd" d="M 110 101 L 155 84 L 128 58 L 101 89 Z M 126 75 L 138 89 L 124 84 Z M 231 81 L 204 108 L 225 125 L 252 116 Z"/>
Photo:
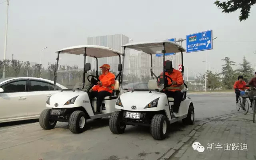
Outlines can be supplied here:
<path id="1" fill-rule="evenodd" d="M 52 130 L 43 130 L 38 122 L 1 124 L 0 160 L 156 160 L 188 135 L 198 120 L 236 112 L 233 93 L 188 97 L 194 102 L 195 124 L 176 122 L 161 141 L 151 137 L 148 127 L 127 126 L 124 134 L 112 134 L 108 118 L 90 120 L 81 134 L 72 134 L 64 122 Z"/>

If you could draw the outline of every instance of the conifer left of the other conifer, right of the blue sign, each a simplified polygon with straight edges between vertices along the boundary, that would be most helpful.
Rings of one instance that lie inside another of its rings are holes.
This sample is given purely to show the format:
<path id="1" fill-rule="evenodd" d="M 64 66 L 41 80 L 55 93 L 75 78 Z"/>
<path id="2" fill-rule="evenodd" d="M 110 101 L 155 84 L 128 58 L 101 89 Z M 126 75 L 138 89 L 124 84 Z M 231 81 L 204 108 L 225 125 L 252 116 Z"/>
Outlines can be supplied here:
<path id="1" fill-rule="evenodd" d="M 225 64 L 222 65 L 222 75 L 224 75 L 222 79 L 222 85 L 225 89 L 232 89 L 234 84 L 234 70 L 232 66 L 236 65 L 234 61 L 230 61 L 229 57 L 225 57 L 222 59 Z"/>

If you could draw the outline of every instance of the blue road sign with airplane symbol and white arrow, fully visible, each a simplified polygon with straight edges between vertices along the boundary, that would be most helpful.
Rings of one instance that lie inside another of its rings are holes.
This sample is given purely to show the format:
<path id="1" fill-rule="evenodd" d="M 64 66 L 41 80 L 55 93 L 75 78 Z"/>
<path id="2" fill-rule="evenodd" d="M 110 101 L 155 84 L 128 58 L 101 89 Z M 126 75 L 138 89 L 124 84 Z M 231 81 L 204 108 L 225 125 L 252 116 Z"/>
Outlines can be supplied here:
<path id="1" fill-rule="evenodd" d="M 186 36 L 186 52 L 212 49 L 212 30 Z"/>

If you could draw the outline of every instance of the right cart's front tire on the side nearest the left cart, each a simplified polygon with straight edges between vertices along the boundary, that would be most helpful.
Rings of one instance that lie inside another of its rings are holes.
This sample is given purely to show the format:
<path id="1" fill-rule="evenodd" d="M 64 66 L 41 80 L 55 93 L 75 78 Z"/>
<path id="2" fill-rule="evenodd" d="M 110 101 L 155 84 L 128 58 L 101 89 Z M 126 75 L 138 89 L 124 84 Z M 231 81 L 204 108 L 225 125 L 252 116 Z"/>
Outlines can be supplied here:
<path id="1" fill-rule="evenodd" d="M 122 134 L 124 133 L 124 130 L 126 128 L 126 124 L 122 120 L 122 112 L 121 111 L 115 111 L 111 114 L 109 119 L 109 128 L 112 133 L 114 134 Z"/>

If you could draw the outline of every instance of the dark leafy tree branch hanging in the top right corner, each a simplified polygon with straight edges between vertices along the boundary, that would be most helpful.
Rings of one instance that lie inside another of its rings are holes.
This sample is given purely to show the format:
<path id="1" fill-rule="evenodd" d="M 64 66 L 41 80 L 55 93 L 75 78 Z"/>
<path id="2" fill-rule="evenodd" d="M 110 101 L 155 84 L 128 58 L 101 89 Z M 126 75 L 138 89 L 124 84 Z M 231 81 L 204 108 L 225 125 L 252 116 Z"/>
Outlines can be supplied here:
<path id="1" fill-rule="evenodd" d="M 218 8 L 222 9 L 222 12 L 230 13 L 235 12 L 238 9 L 241 9 L 239 20 L 246 20 L 249 16 L 251 6 L 256 3 L 256 0 L 228 0 L 226 2 L 220 2 L 216 0 L 214 4 L 218 6 Z"/>

